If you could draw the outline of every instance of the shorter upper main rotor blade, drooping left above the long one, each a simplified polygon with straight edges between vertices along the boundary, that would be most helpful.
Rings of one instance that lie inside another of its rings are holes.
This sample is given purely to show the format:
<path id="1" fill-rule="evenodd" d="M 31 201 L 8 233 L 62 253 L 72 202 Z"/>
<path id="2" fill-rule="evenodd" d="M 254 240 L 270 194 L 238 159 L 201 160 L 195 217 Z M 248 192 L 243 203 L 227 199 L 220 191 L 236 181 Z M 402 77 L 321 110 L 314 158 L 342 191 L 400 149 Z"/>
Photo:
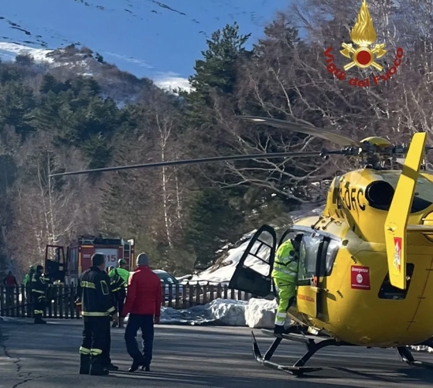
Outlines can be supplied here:
<path id="1" fill-rule="evenodd" d="M 343 136 L 340 134 L 334 134 L 334 132 L 324 131 L 316 127 L 307 127 L 307 125 L 296 124 L 295 122 L 288 122 L 285 120 L 279 120 L 275 118 L 259 118 L 256 116 L 235 116 L 242 120 L 248 120 L 255 122 L 256 124 L 268 124 L 271 127 L 278 127 L 284 129 L 290 129 L 291 131 L 301 132 L 302 134 L 307 134 L 311 136 L 316 136 L 316 138 L 322 138 L 324 140 L 329 140 L 332 143 L 342 145 L 343 147 L 360 147 L 363 145 L 358 140 L 349 138 L 348 136 Z"/>

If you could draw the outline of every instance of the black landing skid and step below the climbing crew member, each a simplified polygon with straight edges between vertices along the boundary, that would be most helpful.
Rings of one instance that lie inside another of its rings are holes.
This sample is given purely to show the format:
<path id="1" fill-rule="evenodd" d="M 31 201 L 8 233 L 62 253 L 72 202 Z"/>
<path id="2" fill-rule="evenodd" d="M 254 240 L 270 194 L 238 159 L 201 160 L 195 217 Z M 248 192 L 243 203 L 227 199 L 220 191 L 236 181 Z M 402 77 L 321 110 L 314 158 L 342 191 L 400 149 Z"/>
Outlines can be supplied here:
<path id="1" fill-rule="evenodd" d="M 259 349 L 259 345 L 257 344 L 256 337 L 254 336 L 254 332 L 252 334 L 252 350 L 254 357 L 257 362 L 263 366 L 267 366 L 268 368 L 277 369 L 279 371 L 283 371 L 286 373 L 290 373 L 295 376 L 303 375 L 304 373 L 322 371 L 323 368 L 318 366 L 304 366 L 307 361 L 313 357 L 318 350 L 325 348 L 327 346 L 352 346 L 350 343 L 345 343 L 341 341 L 336 341 L 336 339 L 332 337 L 318 337 L 312 335 L 306 335 L 303 332 L 296 332 L 297 327 L 292 326 L 288 329 L 288 332 L 284 334 L 275 334 L 273 330 L 261 330 L 263 334 L 269 337 L 275 337 L 275 341 L 272 343 L 268 351 L 262 357 Z M 307 346 L 307 353 L 305 353 L 300 359 L 293 364 L 293 366 L 285 366 L 279 365 L 275 362 L 270 361 L 272 355 L 274 355 L 275 350 L 277 350 L 279 344 L 283 339 L 288 339 L 289 341 L 301 342 L 305 343 Z"/>

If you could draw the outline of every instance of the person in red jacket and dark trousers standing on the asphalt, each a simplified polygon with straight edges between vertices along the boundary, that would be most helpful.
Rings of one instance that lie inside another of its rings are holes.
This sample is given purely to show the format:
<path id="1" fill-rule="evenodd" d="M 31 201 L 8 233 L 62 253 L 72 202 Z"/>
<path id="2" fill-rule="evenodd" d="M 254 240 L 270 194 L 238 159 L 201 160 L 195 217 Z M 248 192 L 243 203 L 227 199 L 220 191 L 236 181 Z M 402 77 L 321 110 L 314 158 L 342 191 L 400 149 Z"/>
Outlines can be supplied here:
<path id="1" fill-rule="evenodd" d="M 147 254 L 140 253 L 136 264 L 138 268 L 129 277 L 122 311 L 124 317 L 129 314 L 124 336 L 126 351 L 133 359 L 129 372 L 135 372 L 139 366 L 142 371 L 150 371 L 154 347 L 154 323 L 158 324 L 161 316 L 161 280 L 149 268 Z M 141 329 L 142 353 L 136 341 L 138 329 Z"/>

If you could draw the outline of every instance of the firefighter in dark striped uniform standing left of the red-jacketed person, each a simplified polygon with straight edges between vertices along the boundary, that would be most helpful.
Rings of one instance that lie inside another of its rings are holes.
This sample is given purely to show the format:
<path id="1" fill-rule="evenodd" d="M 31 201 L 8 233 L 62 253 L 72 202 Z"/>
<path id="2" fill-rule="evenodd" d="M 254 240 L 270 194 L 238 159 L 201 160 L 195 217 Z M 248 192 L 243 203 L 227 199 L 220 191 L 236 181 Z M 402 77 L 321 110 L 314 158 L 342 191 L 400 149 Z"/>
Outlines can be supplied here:
<path id="1" fill-rule="evenodd" d="M 78 299 L 83 316 L 83 342 L 79 353 L 80 374 L 108 375 L 118 367 L 111 364 L 110 322 L 116 309 L 110 290 L 110 277 L 104 272 L 105 257 L 102 253 L 92 256 L 92 266 L 85 270 L 77 286 Z"/>

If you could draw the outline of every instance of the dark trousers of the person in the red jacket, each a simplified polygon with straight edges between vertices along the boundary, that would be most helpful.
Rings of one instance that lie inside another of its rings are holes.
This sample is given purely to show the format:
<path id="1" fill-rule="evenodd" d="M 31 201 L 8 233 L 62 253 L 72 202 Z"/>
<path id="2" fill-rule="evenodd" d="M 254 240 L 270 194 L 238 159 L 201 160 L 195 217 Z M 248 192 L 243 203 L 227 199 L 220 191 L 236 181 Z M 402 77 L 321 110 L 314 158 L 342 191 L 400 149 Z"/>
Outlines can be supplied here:
<path id="1" fill-rule="evenodd" d="M 136 341 L 138 329 L 141 329 L 142 353 Z M 129 314 L 128 324 L 125 329 L 126 351 L 136 361 L 144 358 L 145 365 L 152 362 L 152 350 L 154 347 L 154 316 Z"/>

